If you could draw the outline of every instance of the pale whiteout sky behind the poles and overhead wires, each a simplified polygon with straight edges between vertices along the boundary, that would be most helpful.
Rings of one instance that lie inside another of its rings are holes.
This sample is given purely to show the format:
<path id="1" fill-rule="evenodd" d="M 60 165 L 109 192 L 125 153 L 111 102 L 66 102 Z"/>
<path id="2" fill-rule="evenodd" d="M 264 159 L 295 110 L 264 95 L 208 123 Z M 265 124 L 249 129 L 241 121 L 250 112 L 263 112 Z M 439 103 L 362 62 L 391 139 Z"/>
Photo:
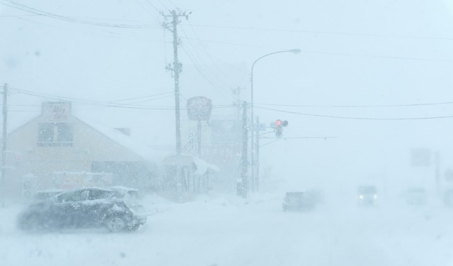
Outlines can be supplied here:
<path id="1" fill-rule="evenodd" d="M 162 29 L 164 18 L 158 11 L 169 14 L 177 7 L 192 12 L 188 20 L 181 17 L 178 26 L 182 104 L 199 95 L 215 105 L 231 104 L 231 88 L 236 86 L 246 88 L 241 100 L 249 101 L 249 73 L 256 58 L 302 50 L 298 55 L 269 56 L 254 69 L 254 111 L 261 121 L 289 120 L 287 137 L 336 136 L 264 146 L 261 165 L 272 166 L 287 185 L 399 180 L 413 174 L 410 148 L 438 151 L 443 169 L 453 167 L 453 118 L 345 119 L 453 116 L 453 104 L 369 107 L 452 102 L 451 0 L 19 3 L 92 23 L 1 5 L 0 83 L 38 95 L 80 99 L 73 103 L 76 114 L 109 127 L 131 127 L 132 135 L 149 145 L 173 145 L 173 110 L 99 103 L 159 94 L 129 102 L 154 99 L 139 104 L 174 107 L 173 79 L 164 70 L 173 61 L 172 36 Z M 95 23 L 147 26 L 121 29 Z M 55 99 L 12 93 L 8 100 L 9 126 L 14 128 L 38 116 L 43 100 Z M 96 104 L 86 104 L 88 100 Z M 368 107 L 344 107 L 351 105 Z"/>

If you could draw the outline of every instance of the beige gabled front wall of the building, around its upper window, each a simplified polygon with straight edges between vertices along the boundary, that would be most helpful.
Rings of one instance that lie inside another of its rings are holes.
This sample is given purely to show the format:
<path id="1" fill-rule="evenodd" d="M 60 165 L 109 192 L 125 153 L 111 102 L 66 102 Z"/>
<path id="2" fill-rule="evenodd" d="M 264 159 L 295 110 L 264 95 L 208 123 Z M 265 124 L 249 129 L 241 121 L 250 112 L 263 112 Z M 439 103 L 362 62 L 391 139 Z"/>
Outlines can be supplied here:
<path id="1" fill-rule="evenodd" d="M 24 176 L 34 176 L 38 189 L 50 189 L 54 171 L 90 172 L 93 162 L 144 162 L 135 152 L 70 115 L 64 122 L 72 125 L 72 146 L 39 146 L 39 125 L 46 122 L 48 118 L 40 116 L 8 135 L 7 195 L 22 196 Z"/>

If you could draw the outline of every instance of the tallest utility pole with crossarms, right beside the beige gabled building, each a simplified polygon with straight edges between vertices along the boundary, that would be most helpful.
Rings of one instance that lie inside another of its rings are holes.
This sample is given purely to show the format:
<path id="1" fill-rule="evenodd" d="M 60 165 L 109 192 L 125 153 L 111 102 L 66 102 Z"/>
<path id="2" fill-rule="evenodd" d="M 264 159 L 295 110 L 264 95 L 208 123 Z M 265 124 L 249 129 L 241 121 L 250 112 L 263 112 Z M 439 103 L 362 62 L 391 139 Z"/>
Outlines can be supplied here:
<path id="1" fill-rule="evenodd" d="M 177 183 L 180 184 L 182 181 L 181 175 L 181 116 L 180 116 L 180 107 L 179 107 L 179 73 L 183 71 L 183 64 L 178 61 L 178 23 L 180 22 L 178 17 L 188 18 L 188 15 L 185 13 L 176 14 L 176 10 L 171 11 L 171 15 L 162 15 L 167 18 L 171 17 L 173 20 L 171 23 L 164 23 L 164 29 L 168 29 L 173 33 L 173 53 L 174 61 L 173 66 L 167 65 L 167 70 L 171 70 L 174 82 L 175 82 L 175 112 L 176 112 L 176 179 Z M 171 24 L 171 27 L 169 26 Z M 181 185 L 181 184 L 180 184 Z"/>

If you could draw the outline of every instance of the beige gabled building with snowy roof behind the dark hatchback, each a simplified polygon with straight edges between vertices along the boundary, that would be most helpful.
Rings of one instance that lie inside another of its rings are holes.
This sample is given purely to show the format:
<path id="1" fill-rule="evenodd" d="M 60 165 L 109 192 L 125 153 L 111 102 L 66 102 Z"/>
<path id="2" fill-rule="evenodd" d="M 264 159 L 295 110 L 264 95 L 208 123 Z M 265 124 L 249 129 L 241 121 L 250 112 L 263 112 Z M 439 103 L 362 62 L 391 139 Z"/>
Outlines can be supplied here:
<path id="1" fill-rule="evenodd" d="M 70 102 L 45 102 L 42 114 L 8 134 L 7 196 L 39 189 L 125 185 L 156 189 L 168 154 L 128 136 L 77 118 Z"/>

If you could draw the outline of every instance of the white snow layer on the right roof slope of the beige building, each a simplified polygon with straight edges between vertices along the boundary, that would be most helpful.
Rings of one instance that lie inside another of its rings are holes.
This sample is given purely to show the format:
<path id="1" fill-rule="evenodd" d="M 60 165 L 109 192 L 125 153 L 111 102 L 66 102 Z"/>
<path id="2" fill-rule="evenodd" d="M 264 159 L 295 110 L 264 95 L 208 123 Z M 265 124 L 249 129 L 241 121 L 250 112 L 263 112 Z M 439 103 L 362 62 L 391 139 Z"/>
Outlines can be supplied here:
<path id="1" fill-rule="evenodd" d="M 79 116 L 77 116 L 76 118 L 81 120 L 82 123 L 89 125 L 89 127 L 92 127 L 94 130 L 107 136 L 109 139 L 112 139 L 112 141 L 115 141 L 121 146 L 124 146 L 132 152 L 135 152 L 137 155 L 148 162 L 162 163 L 165 157 L 171 155 L 170 152 L 162 152 L 160 150 L 153 150 L 151 148 L 148 148 L 146 145 L 144 145 L 144 143 L 132 139 L 130 136 L 127 136 L 119 132 L 118 130 L 114 130 L 113 128 L 93 123 L 89 120 L 86 120 L 86 118 L 80 118 Z"/>

